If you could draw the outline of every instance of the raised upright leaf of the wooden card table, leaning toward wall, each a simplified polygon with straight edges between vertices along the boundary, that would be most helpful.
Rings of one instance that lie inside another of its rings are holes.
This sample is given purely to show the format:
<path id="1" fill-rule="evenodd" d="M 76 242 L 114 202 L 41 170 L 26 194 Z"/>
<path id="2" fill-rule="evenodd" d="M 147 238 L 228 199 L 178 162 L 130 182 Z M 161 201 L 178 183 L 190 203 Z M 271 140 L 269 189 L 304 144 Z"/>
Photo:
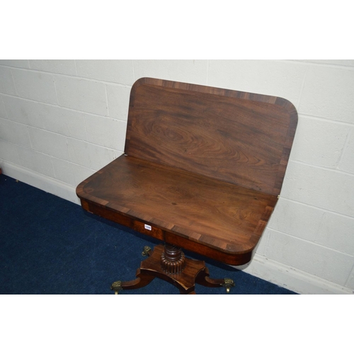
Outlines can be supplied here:
<path id="1" fill-rule="evenodd" d="M 244 96 L 142 79 L 132 90 L 125 154 L 278 195 L 295 108 L 273 96 Z"/>

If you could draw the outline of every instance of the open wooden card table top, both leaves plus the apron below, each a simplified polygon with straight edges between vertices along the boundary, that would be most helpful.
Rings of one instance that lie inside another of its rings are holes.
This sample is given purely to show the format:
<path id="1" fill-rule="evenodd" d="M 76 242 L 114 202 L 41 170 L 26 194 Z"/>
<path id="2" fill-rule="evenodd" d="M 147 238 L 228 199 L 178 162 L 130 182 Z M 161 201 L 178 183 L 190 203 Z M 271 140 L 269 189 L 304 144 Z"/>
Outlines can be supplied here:
<path id="1" fill-rule="evenodd" d="M 241 265 L 278 200 L 296 126 L 295 107 L 283 98 L 139 79 L 125 154 L 76 193 L 89 212 Z"/>

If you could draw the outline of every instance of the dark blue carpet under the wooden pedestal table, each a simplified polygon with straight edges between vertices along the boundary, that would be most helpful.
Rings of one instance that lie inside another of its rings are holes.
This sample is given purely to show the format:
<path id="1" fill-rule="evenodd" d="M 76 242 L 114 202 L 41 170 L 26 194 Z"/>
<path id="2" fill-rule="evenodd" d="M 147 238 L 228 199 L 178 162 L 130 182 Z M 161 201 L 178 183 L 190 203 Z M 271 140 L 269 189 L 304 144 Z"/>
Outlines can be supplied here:
<path id="1" fill-rule="evenodd" d="M 0 175 L 0 293 L 113 294 L 115 280 L 133 280 L 142 249 L 159 242 L 91 215 L 79 205 Z M 230 294 L 295 294 L 228 265 L 206 261 L 211 278 L 232 278 Z M 197 294 L 226 295 L 196 285 Z M 158 278 L 121 295 L 179 294 Z"/>

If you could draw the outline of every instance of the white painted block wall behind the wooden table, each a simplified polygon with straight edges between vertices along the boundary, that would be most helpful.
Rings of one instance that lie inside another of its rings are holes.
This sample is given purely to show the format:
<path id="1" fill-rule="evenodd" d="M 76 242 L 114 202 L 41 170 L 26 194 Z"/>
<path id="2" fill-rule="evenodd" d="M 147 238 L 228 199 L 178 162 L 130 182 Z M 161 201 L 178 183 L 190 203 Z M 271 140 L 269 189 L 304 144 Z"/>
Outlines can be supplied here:
<path id="1" fill-rule="evenodd" d="M 142 76 L 280 96 L 299 124 L 278 206 L 246 272 L 302 294 L 354 292 L 354 60 L 0 60 L 3 173 L 79 202 L 122 154 Z"/>

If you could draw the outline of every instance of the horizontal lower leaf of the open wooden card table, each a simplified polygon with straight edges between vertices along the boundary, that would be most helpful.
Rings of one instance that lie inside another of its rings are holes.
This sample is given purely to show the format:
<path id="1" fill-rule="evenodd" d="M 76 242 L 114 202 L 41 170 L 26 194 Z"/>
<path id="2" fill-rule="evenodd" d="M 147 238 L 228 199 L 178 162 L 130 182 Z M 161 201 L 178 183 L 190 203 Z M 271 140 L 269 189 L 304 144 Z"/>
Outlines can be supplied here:
<path id="1" fill-rule="evenodd" d="M 90 202 L 229 253 L 253 249 L 277 197 L 131 156 L 81 183 Z"/>

